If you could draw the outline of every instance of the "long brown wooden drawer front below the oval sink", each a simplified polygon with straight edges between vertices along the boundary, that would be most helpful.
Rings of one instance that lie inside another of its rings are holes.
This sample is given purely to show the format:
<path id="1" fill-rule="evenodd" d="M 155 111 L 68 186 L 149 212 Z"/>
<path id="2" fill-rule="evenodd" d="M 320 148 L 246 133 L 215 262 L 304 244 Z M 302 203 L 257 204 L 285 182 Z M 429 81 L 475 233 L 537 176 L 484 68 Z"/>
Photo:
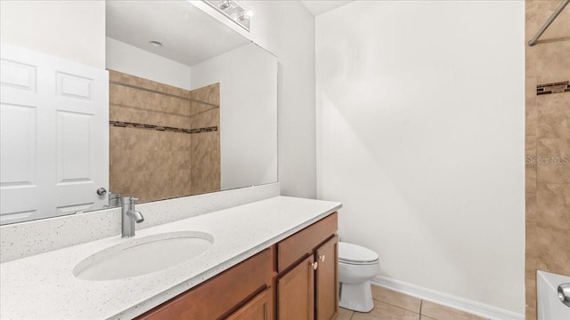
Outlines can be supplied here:
<path id="1" fill-rule="evenodd" d="M 218 319 L 272 283 L 271 249 L 265 249 L 137 319 Z"/>

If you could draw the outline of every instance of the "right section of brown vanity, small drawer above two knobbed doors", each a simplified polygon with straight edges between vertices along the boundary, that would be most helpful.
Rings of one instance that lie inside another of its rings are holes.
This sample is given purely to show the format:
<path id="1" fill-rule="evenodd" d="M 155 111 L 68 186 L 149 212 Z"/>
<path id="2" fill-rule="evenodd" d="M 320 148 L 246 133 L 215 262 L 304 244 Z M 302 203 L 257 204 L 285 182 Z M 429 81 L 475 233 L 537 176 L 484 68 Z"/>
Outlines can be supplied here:
<path id="1" fill-rule="evenodd" d="M 330 320 L 338 316 L 337 213 L 277 244 L 277 318 Z"/>

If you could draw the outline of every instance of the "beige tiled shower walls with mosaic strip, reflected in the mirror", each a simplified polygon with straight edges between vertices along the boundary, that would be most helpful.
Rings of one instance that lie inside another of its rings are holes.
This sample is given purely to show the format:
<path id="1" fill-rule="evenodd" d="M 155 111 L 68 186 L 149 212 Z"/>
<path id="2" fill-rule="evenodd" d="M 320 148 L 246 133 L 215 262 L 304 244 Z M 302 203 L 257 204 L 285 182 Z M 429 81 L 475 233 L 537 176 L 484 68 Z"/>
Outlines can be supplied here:
<path id="1" fill-rule="evenodd" d="M 110 70 L 110 191 L 150 202 L 219 190 L 219 96 L 219 84 L 187 91 Z"/>

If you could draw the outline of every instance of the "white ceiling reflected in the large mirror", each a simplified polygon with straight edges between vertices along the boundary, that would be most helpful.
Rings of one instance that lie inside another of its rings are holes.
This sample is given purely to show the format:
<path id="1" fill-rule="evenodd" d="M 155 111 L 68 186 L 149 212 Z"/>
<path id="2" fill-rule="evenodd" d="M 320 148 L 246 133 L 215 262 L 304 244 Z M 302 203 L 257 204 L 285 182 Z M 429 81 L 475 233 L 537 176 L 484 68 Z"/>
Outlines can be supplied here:
<path id="1" fill-rule="evenodd" d="M 186 1 L 107 1 L 106 29 L 115 40 L 187 66 L 249 43 Z"/>

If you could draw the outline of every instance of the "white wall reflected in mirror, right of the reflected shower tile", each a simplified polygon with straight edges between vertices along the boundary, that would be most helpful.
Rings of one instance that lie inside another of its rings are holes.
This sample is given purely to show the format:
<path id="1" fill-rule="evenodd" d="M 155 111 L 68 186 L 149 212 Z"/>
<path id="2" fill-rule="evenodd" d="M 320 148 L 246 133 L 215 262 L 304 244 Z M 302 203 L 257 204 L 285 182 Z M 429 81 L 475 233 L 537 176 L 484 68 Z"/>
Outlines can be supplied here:
<path id="1" fill-rule="evenodd" d="M 218 82 L 222 189 L 277 181 L 277 59 L 246 44 L 192 66 L 193 89 Z"/>

